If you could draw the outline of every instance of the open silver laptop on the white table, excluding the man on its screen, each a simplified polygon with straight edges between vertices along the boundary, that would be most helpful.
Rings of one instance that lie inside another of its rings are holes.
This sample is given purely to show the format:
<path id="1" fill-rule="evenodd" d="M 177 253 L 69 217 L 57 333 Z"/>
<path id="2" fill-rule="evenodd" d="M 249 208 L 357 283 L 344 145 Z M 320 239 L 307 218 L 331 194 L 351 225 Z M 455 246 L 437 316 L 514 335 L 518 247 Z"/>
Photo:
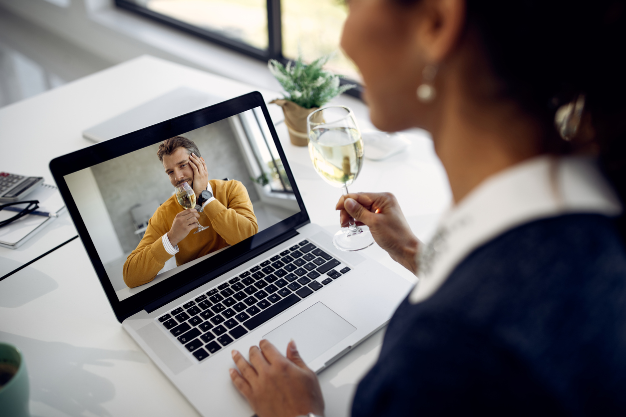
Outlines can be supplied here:
<path id="1" fill-rule="evenodd" d="M 129 288 L 123 265 L 143 234 L 131 213 L 171 198 L 156 149 L 173 136 L 197 144 L 209 178 L 247 189 L 258 231 L 178 266 L 172 257 Z M 284 352 L 294 339 L 320 372 L 384 326 L 411 289 L 310 223 L 258 92 L 61 156 L 50 169 L 116 317 L 203 416 L 254 414 L 230 381 L 232 349 L 247 354 L 265 338 Z"/>

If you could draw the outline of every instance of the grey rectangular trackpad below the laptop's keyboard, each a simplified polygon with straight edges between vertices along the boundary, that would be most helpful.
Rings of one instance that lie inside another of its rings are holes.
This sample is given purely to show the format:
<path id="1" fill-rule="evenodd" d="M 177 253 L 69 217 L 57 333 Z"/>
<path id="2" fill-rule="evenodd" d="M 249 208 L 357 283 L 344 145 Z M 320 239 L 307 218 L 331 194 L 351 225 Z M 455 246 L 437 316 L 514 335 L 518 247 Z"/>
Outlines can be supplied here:
<path id="1" fill-rule="evenodd" d="M 294 339 L 300 356 L 310 363 L 356 328 L 322 303 L 316 303 L 263 336 L 285 354 Z"/>

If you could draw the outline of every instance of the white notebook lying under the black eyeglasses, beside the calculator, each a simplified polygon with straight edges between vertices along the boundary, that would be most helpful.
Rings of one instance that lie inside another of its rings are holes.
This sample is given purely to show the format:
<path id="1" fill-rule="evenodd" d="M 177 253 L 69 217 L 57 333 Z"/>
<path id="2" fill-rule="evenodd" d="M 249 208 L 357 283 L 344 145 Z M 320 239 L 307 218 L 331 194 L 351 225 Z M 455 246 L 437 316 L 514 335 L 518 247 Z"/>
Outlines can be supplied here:
<path id="1" fill-rule="evenodd" d="M 39 216 L 37 214 L 26 214 L 22 218 L 13 221 L 0 228 L 0 246 L 9 249 L 16 249 L 37 234 L 41 229 L 52 223 L 59 214 L 63 212 L 65 203 L 59 194 L 58 189 L 49 184 L 41 184 L 28 194 L 25 200 L 38 200 L 37 211 L 53 213 L 53 216 Z M 27 204 L 16 204 L 0 211 L 0 220 L 13 217 L 16 214 L 14 209 L 22 209 Z"/>

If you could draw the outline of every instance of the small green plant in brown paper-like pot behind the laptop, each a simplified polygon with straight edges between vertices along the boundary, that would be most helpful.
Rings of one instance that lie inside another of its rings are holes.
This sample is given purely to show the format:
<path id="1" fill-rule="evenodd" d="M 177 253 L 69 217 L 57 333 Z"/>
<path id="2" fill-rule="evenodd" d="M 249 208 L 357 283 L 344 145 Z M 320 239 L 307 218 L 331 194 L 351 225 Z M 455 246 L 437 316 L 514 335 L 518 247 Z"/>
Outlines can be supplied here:
<path id="1" fill-rule="evenodd" d="M 310 64 L 302 61 L 302 54 L 295 61 L 283 65 L 270 59 L 267 66 L 285 90 L 284 98 L 270 103 L 278 104 L 285 114 L 291 143 L 307 146 L 307 116 L 331 101 L 344 91 L 356 87 L 354 84 L 339 85 L 342 76 L 324 71 L 322 68 L 332 54 L 324 55 Z"/>

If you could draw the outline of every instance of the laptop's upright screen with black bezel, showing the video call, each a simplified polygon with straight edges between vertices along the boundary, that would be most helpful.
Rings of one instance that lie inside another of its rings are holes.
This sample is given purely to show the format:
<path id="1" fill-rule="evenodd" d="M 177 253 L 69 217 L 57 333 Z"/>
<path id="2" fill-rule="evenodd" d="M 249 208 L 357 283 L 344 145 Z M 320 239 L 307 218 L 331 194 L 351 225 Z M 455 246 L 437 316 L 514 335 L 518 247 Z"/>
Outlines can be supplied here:
<path id="1" fill-rule="evenodd" d="M 159 155 L 167 139 L 170 148 Z M 180 143 L 184 150 L 177 153 Z M 185 209 L 175 185 L 197 184 L 188 161 L 193 149 L 207 166 L 207 189 L 215 200 L 199 213 L 208 228 L 198 233 L 194 228 L 172 244 L 168 233 L 178 232 L 176 217 Z M 125 310 L 215 278 L 308 221 L 259 93 L 61 159 L 51 163 L 61 194 L 111 304 Z"/>

